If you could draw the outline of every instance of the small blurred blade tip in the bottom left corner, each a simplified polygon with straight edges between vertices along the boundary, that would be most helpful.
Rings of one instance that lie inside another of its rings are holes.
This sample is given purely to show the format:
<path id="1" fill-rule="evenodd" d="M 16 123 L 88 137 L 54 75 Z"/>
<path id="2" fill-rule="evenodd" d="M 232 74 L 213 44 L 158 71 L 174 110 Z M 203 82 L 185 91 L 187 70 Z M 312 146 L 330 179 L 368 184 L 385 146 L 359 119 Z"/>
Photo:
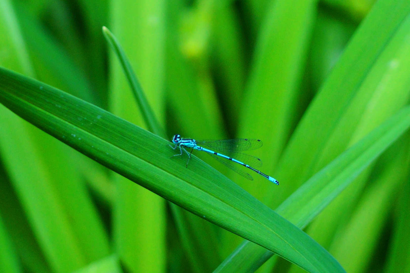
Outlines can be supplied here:
<path id="1" fill-rule="evenodd" d="M 5 225 L 0 215 L 0 271 L 21 273 L 21 265 L 17 259 L 14 246 L 7 234 Z"/>

